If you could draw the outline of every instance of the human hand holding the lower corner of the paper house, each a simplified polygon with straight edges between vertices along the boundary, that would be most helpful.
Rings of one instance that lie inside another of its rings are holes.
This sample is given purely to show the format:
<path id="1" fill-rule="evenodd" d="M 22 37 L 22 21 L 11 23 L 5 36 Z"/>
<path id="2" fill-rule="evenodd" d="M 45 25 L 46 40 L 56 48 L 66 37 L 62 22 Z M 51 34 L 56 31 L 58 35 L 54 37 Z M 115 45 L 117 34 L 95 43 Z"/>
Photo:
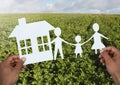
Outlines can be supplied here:
<path id="1" fill-rule="evenodd" d="M 17 55 L 8 57 L 0 63 L 0 85 L 13 85 L 19 77 L 19 72 L 25 68 L 25 58 Z"/>

